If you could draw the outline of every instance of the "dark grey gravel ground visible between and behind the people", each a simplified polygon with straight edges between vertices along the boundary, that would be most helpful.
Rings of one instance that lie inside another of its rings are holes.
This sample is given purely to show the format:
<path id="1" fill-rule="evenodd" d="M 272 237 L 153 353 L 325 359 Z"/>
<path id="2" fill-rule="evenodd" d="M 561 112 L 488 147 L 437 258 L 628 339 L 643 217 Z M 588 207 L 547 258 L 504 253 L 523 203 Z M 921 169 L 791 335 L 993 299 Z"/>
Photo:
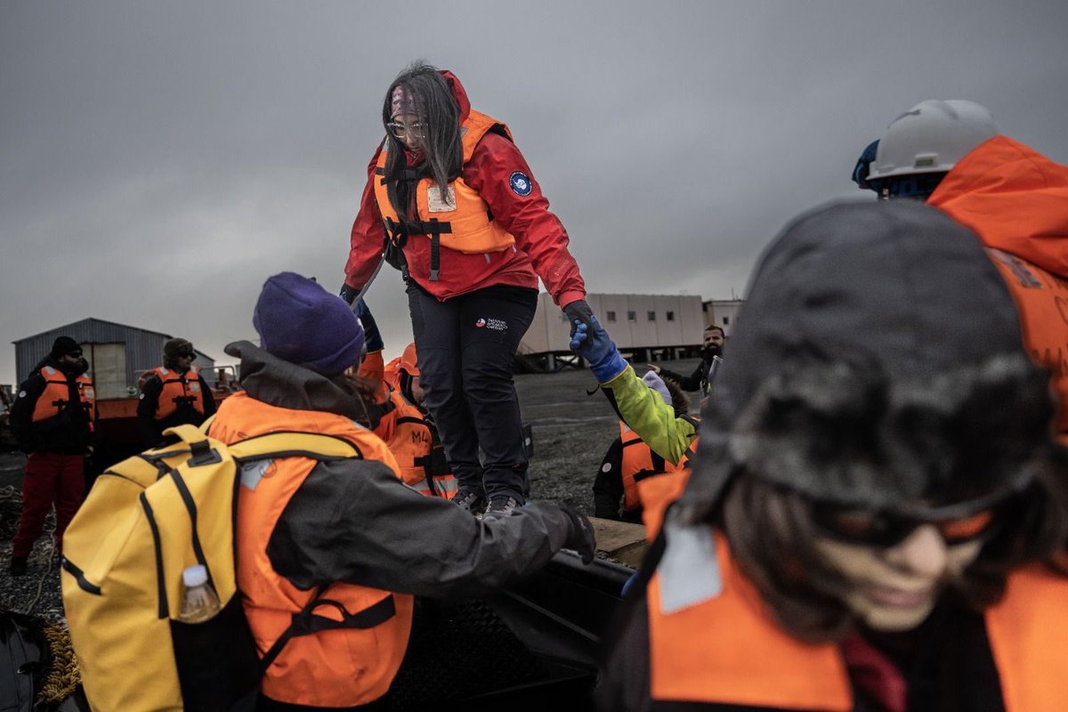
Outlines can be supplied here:
<path id="1" fill-rule="evenodd" d="M 666 365 L 689 373 L 696 364 L 696 360 L 685 360 Z M 639 371 L 644 373 L 644 368 Z M 594 476 L 604 450 L 618 434 L 618 421 L 603 394 L 586 395 L 596 384 L 587 369 L 516 377 L 523 422 L 532 426 L 534 436 L 532 500 L 567 504 L 593 513 Z M 62 622 L 59 556 L 50 536 L 41 537 L 34 545 L 27 575 L 15 577 L 7 573 L 11 538 L 18 525 L 23 463 L 21 454 L 0 454 L 0 611 Z M 46 533 L 53 526 L 49 516 Z"/>

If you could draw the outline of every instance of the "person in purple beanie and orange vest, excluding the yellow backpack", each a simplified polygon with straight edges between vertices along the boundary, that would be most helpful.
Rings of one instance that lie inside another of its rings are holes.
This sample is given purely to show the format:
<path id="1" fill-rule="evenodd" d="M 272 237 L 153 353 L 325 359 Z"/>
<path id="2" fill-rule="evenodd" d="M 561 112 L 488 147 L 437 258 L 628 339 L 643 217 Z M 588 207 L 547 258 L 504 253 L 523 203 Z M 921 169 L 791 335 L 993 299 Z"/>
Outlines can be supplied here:
<path id="1" fill-rule="evenodd" d="M 257 709 L 388 709 L 381 698 L 408 646 L 414 596 L 485 592 L 562 548 L 593 559 L 590 523 L 574 510 L 530 504 L 480 521 L 400 481 L 368 427 L 376 384 L 345 375 L 364 333 L 337 297 L 299 274 L 276 274 L 252 321 L 261 346 L 225 348 L 240 359 L 245 390 L 220 405 L 208 434 L 234 443 L 315 432 L 361 454 L 294 455 L 242 471 L 237 584 L 260 653 L 272 656 Z"/>

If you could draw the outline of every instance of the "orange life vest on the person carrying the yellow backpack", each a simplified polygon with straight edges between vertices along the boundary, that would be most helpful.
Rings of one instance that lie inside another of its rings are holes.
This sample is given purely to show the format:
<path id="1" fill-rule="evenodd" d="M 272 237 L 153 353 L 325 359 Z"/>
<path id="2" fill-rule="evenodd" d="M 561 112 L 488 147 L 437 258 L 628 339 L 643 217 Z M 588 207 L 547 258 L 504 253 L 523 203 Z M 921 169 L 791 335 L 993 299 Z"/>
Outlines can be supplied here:
<path id="1" fill-rule="evenodd" d="M 333 436 L 356 445 L 363 459 L 397 470 L 386 444 L 343 415 L 278 408 L 247 393 L 222 402 L 209 431 L 226 443 L 276 431 Z M 242 476 L 237 504 L 237 586 L 261 655 L 317 592 L 320 600 L 336 602 L 348 615 L 376 607 L 387 615 L 394 611 L 370 629 L 340 628 L 293 637 L 261 683 L 267 697 L 282 702 L 327 708 L 366 705 L 389 690 L 400 665 L 411 631 L 412 597 L 345 583 L 332 583 L 320 591 L 301 590 L 274 572 L 267 556 L 271 533 L 315 464 L 308 458 L 285 458 L 263 463 L 251 485 Z M 314 613 L 342 620 L 332 604 L 319 605 Z"/>

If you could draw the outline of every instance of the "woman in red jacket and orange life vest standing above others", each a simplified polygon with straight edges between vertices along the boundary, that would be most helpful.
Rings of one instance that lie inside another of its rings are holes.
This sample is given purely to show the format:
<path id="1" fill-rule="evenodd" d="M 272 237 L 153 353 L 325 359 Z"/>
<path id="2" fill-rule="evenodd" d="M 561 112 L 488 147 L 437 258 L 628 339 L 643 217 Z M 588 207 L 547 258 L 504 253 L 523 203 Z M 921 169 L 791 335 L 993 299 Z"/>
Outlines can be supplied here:
<path id="1" fill-rule="evenodd" d="M 382 123 L 342 297 L 351 303 L 383 258 L 402 271 L 426 409 L 459 482 L 453 502 L 506 517 L 527 488 L 513 367 L 538 278 L 583 322 L 585 284 L 507 126 L 473 110 L 451 72 L 405 69 Z"/>

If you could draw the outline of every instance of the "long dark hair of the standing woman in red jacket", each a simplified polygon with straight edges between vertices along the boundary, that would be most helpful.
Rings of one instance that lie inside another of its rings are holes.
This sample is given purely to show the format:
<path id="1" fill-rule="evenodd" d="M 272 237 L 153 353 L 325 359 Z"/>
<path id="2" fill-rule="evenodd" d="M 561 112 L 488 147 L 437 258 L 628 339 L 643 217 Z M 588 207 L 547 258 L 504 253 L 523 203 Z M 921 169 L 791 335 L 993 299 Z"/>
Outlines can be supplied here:
<path id="1" fill-rule="evenodd" d="M 386 131 L 387 154 L 386 174 L 390 203 L 398 216 L 411 218 L 409 205 L 412 183 L 406 177 L 434 178 L 441 190 L 442 200 L 449 200 L 449 184 L 455 180 L 464 168 L 464 144 L 460 141 L 459 105 L 449 82 L 437 67 L 417 60 L 397 75 L 386 92 L 382 101 L 382 126 L 392 121 L 393 90 L 404 89 L 415 106 L 415 113 L 427 125 L 427 136 L 423 139 L 426 159 L 415 169 L 414 176 L 406 176 L 407 170 L 404 144 L 392 132 Z M 400 188 L 398 190 L 398 188 Z"/>

